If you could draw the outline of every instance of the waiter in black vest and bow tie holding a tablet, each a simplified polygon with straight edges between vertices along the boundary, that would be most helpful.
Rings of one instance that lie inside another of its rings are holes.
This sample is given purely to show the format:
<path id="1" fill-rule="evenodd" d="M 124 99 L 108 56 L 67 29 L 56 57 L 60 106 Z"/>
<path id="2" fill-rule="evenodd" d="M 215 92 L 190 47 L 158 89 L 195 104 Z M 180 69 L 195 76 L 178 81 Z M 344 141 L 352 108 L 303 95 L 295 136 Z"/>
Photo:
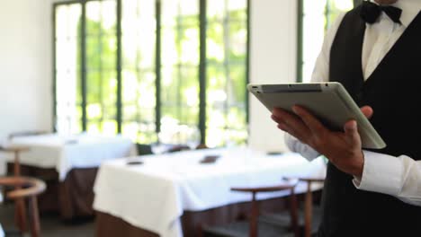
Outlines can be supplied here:
<path id="1" fill-rule="evenodd" d="M 363 2 L 327 32 L 313 82 L 339 82 L 387 147 L 363 150 L 354 120 L 324 127 L 273 110 L 292 151 L 329 160 L 318 236 L 421 236 L 421 0 Z"/>

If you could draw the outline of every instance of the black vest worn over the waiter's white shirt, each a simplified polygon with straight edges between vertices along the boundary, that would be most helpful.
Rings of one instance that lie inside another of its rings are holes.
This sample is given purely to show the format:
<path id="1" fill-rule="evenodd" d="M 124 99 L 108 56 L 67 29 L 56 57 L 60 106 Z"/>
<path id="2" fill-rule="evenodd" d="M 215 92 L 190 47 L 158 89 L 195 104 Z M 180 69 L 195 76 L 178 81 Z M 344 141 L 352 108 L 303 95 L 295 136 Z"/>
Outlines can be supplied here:
<path id="1" fill-rule="evenodd" d="M 329 80 L 344 84 L 387 144 L 375 152 L 421 160 L 421 14 L 364 82 L 365 22 L 357 7 L 345 14 L 330 51 Z M 319 236 L 421 236 L 421 207 L 355 189 L 353 177 L 327 164 Z M 387 180 L 386 180 L 387 181 Z M 419 180 L 421 182 L 421 180 Z"/>

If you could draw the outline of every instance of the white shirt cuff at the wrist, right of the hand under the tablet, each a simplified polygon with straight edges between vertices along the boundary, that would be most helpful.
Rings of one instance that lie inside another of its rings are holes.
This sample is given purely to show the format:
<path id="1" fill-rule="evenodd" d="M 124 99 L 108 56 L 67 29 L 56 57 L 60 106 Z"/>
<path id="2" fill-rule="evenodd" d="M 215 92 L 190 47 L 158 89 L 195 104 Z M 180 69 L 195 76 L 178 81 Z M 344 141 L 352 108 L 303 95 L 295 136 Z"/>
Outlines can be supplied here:
<path id="1" fill-rule="evenodd" d="M 363 154 L 363 176 L 361 180 L 354 177 L 355 188 L 397 196 L 402 187 L 401 159 L 369 151 L 363 151 Z"/>

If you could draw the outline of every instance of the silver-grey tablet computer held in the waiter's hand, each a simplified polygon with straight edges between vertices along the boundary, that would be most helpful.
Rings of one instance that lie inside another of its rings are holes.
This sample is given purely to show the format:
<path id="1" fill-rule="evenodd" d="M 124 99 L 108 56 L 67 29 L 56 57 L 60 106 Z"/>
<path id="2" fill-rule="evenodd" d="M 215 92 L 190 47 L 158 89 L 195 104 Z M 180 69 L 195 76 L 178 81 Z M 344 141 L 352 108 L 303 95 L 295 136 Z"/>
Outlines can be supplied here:
<path id="1" fill-rule="evenodd" d="M 337 131 L 343 131 L 345 122 L 355 119 L 363 148 L 386 147 L 341 83 L 248 84 L 247 89 L 270 111 L 282 108 L 292 112 L 292 106 L 300 105 Z"/>

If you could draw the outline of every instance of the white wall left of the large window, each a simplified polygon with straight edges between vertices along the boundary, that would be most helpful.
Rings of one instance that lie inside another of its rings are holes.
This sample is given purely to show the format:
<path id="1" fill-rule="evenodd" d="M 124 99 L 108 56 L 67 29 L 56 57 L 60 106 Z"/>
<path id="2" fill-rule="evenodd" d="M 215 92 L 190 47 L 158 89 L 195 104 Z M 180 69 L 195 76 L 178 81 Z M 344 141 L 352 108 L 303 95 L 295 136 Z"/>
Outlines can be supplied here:
<path id="1" fill-rule="evenodd" d="M 49 0 L 3 0 L 0 7 L 0 139 L 51 127 Z"/>

